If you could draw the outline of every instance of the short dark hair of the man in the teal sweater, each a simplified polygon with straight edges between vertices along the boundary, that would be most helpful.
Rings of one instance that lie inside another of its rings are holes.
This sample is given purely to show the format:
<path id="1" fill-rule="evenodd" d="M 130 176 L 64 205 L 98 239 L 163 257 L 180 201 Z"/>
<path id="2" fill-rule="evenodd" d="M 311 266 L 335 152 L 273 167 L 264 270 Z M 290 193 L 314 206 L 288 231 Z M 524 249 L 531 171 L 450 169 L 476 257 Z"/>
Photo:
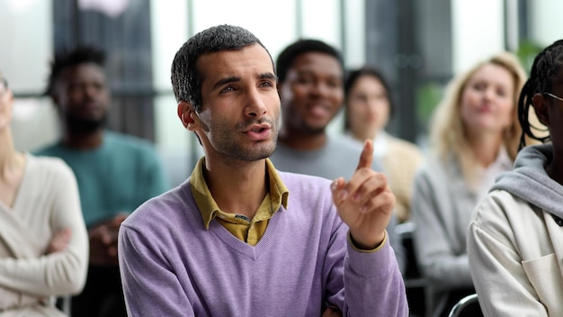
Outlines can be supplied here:
<path id="1" fill-rule="evenodd" d="M 88 63 L 94 63 L 100 68 L 104 68 L 105 51 L 90 45 L 80 45 L 72 50 L 58 50 L 50 63 L 50 75 L 45 95 L 51 97 L 54 95 L 55 84 L 65 69 Z"/>

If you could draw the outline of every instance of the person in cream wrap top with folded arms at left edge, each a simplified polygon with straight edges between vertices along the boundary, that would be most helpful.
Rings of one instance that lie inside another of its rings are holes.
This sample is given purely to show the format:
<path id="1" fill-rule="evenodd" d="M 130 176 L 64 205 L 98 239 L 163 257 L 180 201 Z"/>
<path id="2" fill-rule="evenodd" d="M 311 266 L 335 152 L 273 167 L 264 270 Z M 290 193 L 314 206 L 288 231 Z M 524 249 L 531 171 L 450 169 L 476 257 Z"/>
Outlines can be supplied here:
<path id="1" fill-rule="evenodd" d="M 66 316 L 54 299 L 82 290 L 88 263 L 76 178 L 61 159 L 16 151 L 12 114 L 0 73 L 0 315 Z"/>

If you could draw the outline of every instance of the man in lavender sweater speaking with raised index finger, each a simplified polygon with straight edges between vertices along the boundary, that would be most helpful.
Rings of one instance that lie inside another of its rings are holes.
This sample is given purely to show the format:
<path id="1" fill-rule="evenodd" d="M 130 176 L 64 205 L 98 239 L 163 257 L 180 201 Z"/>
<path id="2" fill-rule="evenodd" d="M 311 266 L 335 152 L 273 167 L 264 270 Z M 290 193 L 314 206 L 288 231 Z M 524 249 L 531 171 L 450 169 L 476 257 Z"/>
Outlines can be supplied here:
<path id="1" fill-rule="evenodd" d="M 385 228 L 395 196 L 366 141 L 348 180 L 277 171 L 273 59 L 230 25 L 178 50 L 178 117 L 205 156 L 122 223 L 130 316 L 407 316 Z"/>

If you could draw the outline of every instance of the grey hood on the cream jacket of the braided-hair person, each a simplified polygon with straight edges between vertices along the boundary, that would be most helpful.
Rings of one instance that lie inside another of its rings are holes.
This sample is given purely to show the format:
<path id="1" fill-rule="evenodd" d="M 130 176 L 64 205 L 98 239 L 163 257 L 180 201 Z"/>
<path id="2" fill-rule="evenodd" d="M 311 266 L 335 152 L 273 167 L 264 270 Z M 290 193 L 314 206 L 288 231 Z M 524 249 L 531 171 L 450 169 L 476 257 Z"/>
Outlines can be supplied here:
<path id="1" fill-rule="evenodd" d="M 545 167 L 553 159 L 550 143 L 531 145 L 520 150 L 514 169 L 501 174 L 491 191 L 502 189 L 563 218 L 563 186 L 551 179 Z"/>

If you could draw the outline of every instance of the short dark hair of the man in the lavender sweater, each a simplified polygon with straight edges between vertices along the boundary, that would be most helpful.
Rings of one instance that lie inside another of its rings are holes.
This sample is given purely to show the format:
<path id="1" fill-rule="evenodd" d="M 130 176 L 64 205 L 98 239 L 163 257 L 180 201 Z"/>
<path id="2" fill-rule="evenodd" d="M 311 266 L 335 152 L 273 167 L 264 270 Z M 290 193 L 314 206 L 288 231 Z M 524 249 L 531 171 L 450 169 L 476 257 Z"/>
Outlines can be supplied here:
<path id="1" fill-rule="evenodd" d="M 171 80 L 176 101 L 187 101 L 192 104 L 196 112 L 200 112 L 203 77 L 198 71 L 197 60 L 208 53 L 221 50 L 242 50 L 253 44 L 260 44 L 268 52 L 255 34 L 239 26 L 222 24 L 192 36 L 176 52 L 172 62 Z M 271 55 L 270 59 L 272 59 Z"/>

